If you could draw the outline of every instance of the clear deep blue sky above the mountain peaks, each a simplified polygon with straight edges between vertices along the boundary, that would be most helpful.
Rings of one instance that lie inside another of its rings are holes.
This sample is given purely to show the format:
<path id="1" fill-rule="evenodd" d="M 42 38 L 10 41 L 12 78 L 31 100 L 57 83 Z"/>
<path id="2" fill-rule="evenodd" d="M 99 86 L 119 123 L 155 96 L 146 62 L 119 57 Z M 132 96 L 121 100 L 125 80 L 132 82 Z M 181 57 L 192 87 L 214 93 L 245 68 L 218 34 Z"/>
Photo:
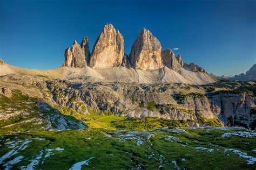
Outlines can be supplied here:
<path id="1" fill-rule="evenodd" d="M 255 0 L 0 2 L 0 58 L 18 67 L 59 67 L 73 40 L 88 36 L 92 50 L 107 23 L 123 34 L 127 54 L 145 27 L 209 73 L 245 73 L 256 63 Z"/>

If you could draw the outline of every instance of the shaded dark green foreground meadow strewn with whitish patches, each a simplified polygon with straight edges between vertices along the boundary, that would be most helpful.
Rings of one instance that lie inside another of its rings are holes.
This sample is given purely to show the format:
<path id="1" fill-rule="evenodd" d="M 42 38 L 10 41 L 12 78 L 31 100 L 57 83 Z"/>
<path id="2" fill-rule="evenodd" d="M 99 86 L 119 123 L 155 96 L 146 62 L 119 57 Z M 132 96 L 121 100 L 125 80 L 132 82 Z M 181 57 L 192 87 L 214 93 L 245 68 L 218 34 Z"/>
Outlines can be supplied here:
<path id="1" fill-rule="evenodd" d="M 25 158 L 14 165 L 13 169 L 26 166 L 37 157 L 39 151 L 44 148 L 63 148 L 63 152 L 52 151 L 54 155 L 39 160 L 35 169 L 69 169 L 73 164 L 87 160 L 91 157 L 89 165 L 82 169 L 136 169 L 138 165 L 145 169 L 157 169 L 160 165 L 163 169 L 174 169 L 172 161 L 183 169 L 255 169 L 256 165 L 247 165 L 246 159 L 228 152 L 224 148 L 234 148 L 248 155 L 256 157 L 251 151 L 256 146 L 255 138 L 229 137 L 221 138 L 225 132 L 221 130 L 207 129 L 184 129 L 186 133 L 170 133 L 170 129 L 155 131 L 140 131 L 139 138 L 143 143 L 137 145 L 136 139 L 125 137 L 105 137 L 105 134 L 120 135 L 132 134 L 136 131 L 111 131 L 106 129 L 68 130 L 68 131 L 43 131 L 32 130 L 17 135 L 6 134 L 1 137 L 0 157 L 10 150 L 5 145 L 5 140 L 15 141 L 30 139 L 28 147 L 15 154 L 6 161 L 12 160 L 19 155 Z M 144 134 L 151 134 L 150 138 L 143 137 Z M 180 141 L 171 142 L 165 140 L 167 136 L 173 136 Z M 35 137 L 45 140 L 33 139 Z M 16 139 L 15 139 L 16 138 Z M 209 143 L 221 147 L 210 146 Z M 250 143 L 250 145 L 247 145 Z M 195 147 L 212 148 L 213 152 L 196 150 Z M 46 154 L 46 152 L 43 152 Z M 186 161 L 181 161 L 185 158 Z M 43 164 L 42 164 L 43 163 Z M 3 165 L 0 165 L 3 169 Z"/>

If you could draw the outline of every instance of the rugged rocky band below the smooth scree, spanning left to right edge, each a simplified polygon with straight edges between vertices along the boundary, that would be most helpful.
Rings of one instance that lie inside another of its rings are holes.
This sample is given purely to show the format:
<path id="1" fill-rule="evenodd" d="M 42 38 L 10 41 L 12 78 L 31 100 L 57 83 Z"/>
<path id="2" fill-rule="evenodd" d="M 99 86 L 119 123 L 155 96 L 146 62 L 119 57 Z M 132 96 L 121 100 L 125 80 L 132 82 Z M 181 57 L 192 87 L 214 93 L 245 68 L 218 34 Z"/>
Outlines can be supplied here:
<path id="1" fill-rule="evenodd" d="M 22 90 L 30 96 L 44 98 L 52 106 L 72 108 L 85 115 L 92 111 L 174 119 L 185 121 L 188 126 L 239 125 L 249 129 L 255 129 L 256 123 L 255 97 L 247 91 L 231 90 L 245 84 L 209 91 L 217 85 L 86 82 L 84 79 L 49 80 L 9 74 L 0 77 L 0 86 L 11 91 Z M 251 86 L 254 87 L 255 82 L 251 82 Z"/>

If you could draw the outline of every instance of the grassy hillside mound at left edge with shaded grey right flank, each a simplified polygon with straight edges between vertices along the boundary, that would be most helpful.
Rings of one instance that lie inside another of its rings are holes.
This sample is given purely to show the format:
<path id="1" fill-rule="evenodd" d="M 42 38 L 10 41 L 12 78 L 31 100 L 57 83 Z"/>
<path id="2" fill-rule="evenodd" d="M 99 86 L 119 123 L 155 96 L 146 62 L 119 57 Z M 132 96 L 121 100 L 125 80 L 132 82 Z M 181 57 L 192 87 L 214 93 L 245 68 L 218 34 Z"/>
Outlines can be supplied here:
<path id="1" fill-rule="evenodd" d="M 49 119 L 51 129 L 58 129 L 60 118 L 66 121 L 70 129 L 75 128 L 74 124 L 79 124 L 75 117 L 63 115 L 38 98 L 29 97 L 18 90 L 12 91 L 12 97 L 9 98 L 0 95 L 0 112 L 7 117 L 0 121 L 0 134 L 47 129 Z"/>

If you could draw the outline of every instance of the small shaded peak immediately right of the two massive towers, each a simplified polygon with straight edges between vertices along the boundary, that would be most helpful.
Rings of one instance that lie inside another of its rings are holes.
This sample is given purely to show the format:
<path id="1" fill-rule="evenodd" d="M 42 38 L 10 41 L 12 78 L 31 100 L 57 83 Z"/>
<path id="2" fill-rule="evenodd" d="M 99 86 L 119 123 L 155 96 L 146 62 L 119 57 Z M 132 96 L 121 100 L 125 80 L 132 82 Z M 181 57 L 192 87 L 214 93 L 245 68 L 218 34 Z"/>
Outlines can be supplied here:
<path id="1" fill-rule="evenodd" d="M 179 61 L 175 58 L 174 53 L 171 51 L 171 49 L 164 49 L 161 52 L 161 58 L 163 60 L 163 63 L 166 67 L 169 67 L 173 70 L 180 70 L 181 65 Z"/>

